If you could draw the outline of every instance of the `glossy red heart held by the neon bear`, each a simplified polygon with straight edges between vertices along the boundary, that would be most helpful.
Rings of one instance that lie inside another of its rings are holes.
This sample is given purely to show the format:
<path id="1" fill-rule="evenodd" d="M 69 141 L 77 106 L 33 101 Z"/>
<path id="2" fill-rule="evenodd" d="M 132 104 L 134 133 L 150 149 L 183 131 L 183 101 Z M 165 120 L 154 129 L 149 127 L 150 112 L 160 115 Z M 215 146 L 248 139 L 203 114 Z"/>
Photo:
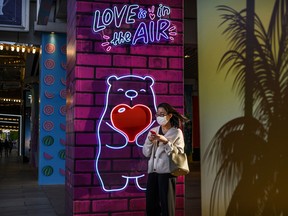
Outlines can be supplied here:
<path id="1" fill-rule="evenodd" d="M 134 142 L 136 136 L 151 124 L 152 113 L 143 104 L 132 108 L 126 104 L 119 104 L 112 109 L 110 118 L 113 126 L 122 131 L 129 142 Z"/>

